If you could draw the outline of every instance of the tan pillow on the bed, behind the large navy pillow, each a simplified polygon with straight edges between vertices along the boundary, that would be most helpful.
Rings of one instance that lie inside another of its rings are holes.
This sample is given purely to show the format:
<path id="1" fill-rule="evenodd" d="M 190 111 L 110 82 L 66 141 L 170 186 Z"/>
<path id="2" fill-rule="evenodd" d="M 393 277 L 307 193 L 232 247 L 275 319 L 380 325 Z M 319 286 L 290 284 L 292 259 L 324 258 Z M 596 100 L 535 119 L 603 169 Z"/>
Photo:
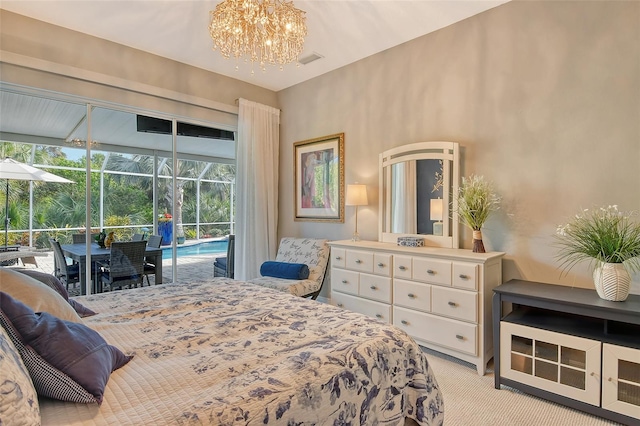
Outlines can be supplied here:
<path id="1" fill-rule="evenodd" d="M 10 268 L 0 268 L 0 291 L 21 301 L 34 312 L 48 312 L 63 320 L 82 322 L 73 307 L 51 287 Z"/>

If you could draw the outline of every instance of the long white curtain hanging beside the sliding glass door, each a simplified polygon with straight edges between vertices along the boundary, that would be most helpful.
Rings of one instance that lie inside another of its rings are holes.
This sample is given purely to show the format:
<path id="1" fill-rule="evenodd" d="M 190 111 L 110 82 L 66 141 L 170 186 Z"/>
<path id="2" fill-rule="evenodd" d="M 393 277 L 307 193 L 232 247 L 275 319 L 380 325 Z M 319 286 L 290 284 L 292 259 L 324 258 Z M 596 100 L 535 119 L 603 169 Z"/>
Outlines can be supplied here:
<path id="1" fill-rule="evenodd" d="M 235 279 L 260 276 L 278 249 L 280 110 L 240 99 L 236 156 Z"/>

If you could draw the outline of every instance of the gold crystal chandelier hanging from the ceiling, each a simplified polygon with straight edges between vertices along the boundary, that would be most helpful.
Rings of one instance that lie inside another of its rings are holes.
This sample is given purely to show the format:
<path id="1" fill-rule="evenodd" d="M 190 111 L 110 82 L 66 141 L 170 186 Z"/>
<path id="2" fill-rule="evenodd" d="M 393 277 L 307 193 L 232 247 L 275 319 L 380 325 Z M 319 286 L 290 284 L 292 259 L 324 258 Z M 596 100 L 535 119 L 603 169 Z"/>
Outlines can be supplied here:
<path id="1" fill-rule="evenodd" d="M 298 60 L 307 35 L 305 12 L 284 0 L 224 0 L 209 12 L 213 49 L 222 56 L 266 65 Z M 236 65 L 238 69 L 238 65 Z M 253 74 L 253 69 L 251 70 Z"/>

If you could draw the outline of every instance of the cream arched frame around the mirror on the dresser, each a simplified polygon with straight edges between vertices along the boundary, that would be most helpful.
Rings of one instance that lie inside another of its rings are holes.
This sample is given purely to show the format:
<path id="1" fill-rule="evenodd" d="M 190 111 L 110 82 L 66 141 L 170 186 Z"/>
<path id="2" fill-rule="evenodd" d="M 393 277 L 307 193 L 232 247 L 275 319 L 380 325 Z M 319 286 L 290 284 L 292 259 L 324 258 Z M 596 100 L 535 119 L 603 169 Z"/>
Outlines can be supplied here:
<path id="1" fill-rule="evenodd" d="M 403 234 L 386 232 L 391 229 L 391 191 L 385 188 L 391 186 L 391 166 L 408 160 L 443 160 L 443 174 L 449 175 L 448 168 L 451 167 L 451 185 L 443 188 L 443 199 L 450 199 L 449 218 L 443 226 L 443 235 L 429 234 Z M 459 247 L 459 221 L 458 221 L 458 192 L 460 187 L 460 147 L 457 142 L 417 142 L 392 148 L 380 154 L 379 161 L 379 220 L 378 220 L 378 240 L 387 243 L 397 243 L 398 237 L 415 237 L 424 239 L 424 245 L 430 247 Z"/>

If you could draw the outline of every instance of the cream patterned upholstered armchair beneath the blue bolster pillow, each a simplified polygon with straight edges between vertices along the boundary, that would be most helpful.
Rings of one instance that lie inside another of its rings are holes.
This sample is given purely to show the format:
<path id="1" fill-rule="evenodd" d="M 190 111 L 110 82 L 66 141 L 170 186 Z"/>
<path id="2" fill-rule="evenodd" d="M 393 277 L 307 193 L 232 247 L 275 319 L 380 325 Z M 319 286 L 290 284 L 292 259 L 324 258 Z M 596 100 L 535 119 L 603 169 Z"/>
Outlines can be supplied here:
<path id="1" fill-rule="evenodd" d="M 329 252 L 328 240 L 285 237 L 280 240 L 275 261 L 307 265 L 309 277 L 299 280 L 263 276 L 249 282 L 315 300 L 322 290 L 327 273 Z"/>

